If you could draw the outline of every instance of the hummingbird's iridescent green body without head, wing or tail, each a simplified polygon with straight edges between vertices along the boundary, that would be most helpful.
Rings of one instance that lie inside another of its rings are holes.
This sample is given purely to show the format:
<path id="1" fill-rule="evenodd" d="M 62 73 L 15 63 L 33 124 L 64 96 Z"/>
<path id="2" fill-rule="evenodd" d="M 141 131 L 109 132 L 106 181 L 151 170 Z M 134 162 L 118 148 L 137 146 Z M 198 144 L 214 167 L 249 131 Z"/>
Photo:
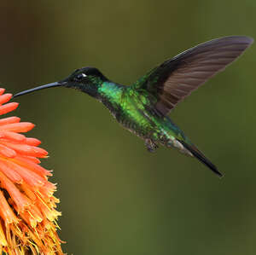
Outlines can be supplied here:
<path id="1" fill-rule="evenodd" d="M 152 107 L 147 91 L 137 91 L 133 86 L 107 81 L 102 82 L 98 92 L 98 100 L 108 107 L 120 125 L 145 140 L 148 151 L 153 152 L 161 144 L 192 155 L 178 142 L 190 143 L 189 139 L 168 116 L 158 113 Z"/>

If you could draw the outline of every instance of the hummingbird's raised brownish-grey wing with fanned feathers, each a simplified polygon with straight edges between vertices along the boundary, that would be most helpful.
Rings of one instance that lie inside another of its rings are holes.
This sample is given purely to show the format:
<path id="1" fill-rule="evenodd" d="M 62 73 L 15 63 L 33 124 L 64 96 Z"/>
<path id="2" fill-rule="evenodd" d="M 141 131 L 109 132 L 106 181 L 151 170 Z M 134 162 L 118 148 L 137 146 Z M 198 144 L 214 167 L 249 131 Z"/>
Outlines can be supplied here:
<path id="1" fill-rule="evenodd" d="M 150 92 L 156 98 L 155 107 L 166 115 L 207 79 L 235 61 L 252 43 L 253 38 L 244 36 L 201 43 L 155 67 L 135 87 Z"/>

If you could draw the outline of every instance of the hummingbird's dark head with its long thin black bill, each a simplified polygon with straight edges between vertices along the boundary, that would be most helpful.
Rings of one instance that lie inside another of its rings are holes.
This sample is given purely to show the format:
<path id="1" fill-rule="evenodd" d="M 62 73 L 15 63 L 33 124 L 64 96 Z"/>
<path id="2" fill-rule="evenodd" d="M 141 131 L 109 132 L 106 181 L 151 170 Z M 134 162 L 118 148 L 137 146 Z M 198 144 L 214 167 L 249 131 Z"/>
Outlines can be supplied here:
<path id="1" fill-rule="evenodd" d="M 75 70 L 67 78 L 51 84 L 44 84 L 30 90 L 24 90 L 13 97 L 23 96 L 37 90 L 44 90 L 53 87 L 66 87 L 81 90 L 90 96 L 97 96 L 97 90 L 103 82 L 108 81 L 102 72 L 95 67 L 83 67 Z"/>

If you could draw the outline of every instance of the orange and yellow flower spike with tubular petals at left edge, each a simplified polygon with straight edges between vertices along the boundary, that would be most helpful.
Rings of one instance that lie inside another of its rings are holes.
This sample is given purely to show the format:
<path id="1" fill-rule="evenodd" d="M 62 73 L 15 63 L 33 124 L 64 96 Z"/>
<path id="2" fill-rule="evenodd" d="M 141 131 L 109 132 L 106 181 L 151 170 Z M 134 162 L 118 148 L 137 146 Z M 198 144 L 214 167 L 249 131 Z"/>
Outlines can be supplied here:
<path id="1" fill-rule="evenodd" d="M 18 107 L 16 102 L 3 105 L 12 97 L 3 92 L 0 115 Z M 55 184 L 38 159 L 48 153 L 38 148 L 38 139 L 20 134 L 33 127 L 18 117 L 0 119 L 0 254 L 63 254 L 56 233 L 61 213 L 55 210 Z"/>

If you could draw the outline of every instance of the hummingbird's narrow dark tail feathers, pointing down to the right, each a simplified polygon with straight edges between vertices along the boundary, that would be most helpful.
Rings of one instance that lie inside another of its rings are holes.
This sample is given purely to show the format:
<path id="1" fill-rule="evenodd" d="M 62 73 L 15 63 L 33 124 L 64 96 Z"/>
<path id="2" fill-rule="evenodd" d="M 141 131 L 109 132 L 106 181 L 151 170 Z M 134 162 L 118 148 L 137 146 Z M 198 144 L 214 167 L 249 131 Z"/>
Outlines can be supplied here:
<path id="1" fill-rule="evenodd" d="M 212 162 L 209 159 L 207 159 L 207 157 L 204 154 L 202 154 L 198 148 L 195 147 L 195 145 L 190 145 L 186 142 L 183 142 L 182 140 L 178 140 L 178 142 L 182 143 L 184 148 L 189 150 L 189 152 L 193 154 L 193 156 L 196 159 L 200 160 L 201 163 L 207 165 L 207 167 L 209 167 L 215 174 L 217 174 L 218 177 L 223 177 L 222 173 L 218 171 L 217 167 L 213 165 Z"/>

